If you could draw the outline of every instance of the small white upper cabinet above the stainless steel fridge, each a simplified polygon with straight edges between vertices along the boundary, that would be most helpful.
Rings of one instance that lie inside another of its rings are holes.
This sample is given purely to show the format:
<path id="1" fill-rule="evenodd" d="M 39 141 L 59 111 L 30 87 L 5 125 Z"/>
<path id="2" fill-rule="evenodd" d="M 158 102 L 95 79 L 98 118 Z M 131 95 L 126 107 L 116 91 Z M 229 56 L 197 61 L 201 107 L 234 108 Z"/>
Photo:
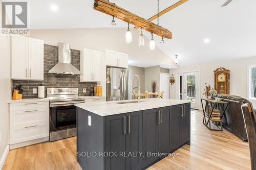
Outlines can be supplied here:
<path id="1" fill-rule="evenodd" d="M 124 53 L 106 50 L 106 65 L 128 68 L 128 55 Z"/>

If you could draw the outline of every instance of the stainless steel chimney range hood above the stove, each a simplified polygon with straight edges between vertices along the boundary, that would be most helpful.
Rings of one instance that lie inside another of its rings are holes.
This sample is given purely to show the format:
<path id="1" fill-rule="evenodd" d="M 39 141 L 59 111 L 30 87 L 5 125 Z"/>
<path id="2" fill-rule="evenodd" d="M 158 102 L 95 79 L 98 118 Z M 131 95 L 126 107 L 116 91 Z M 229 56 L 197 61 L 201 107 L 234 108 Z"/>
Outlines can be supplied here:
<path id="1" fill-rule="evenodd" d="M 80 75 L 80 71 L 71 64 L 70 44 L 58 43 L 58 63 L 49 70 L 48 74 L 54 75 Z"/>

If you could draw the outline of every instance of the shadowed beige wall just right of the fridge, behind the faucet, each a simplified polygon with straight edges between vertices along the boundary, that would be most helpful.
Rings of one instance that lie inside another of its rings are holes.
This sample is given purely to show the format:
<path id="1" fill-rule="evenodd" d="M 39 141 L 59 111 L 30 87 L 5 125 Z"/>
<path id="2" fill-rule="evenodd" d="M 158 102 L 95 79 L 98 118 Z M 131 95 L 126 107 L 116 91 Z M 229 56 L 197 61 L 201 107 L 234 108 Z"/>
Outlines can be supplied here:
<path id="1" fill-rule="evenodd" d="M 138 75 L 140 77 L 140 92 L 144 93 L 145 92 L 145 68 L 143 67 L 136 67 L 136 66 L 132 66 L 129 65 L 128 69 L 132 70 L 132 84 L 133 84 L 133 78 L 135 75 Z M 134 80 L 134 86 L 138 86 L 139 85 L 139 81 L 138 79 Z"/>

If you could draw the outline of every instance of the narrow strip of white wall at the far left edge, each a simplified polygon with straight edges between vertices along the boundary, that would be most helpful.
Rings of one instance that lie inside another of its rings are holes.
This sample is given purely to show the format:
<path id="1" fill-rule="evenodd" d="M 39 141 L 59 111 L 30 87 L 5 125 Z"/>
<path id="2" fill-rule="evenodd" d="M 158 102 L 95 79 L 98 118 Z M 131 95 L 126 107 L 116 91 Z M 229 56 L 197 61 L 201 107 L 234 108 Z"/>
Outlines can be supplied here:
<path id="1" fill-rule="evenodd" d="M 11 99 L 10 37 L 0 35 L 0 160 L 8 146 L 8 101 Z M 1 167 L 0 167 L 1 169 Z"/>

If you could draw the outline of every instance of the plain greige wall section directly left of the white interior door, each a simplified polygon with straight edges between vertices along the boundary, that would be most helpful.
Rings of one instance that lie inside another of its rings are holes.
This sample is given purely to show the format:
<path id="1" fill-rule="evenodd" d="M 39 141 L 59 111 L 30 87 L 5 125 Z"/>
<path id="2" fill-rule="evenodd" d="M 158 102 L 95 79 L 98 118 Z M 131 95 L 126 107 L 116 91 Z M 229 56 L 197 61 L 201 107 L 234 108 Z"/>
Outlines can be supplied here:
<path id="1" fill-rule="evenodd" d="M 160 66 L 153 66 L 145 68 L 145 90 L 152 91 L 151 80 L 157 81 L 156 90 L 159 90 L 160 83 Z"/>

